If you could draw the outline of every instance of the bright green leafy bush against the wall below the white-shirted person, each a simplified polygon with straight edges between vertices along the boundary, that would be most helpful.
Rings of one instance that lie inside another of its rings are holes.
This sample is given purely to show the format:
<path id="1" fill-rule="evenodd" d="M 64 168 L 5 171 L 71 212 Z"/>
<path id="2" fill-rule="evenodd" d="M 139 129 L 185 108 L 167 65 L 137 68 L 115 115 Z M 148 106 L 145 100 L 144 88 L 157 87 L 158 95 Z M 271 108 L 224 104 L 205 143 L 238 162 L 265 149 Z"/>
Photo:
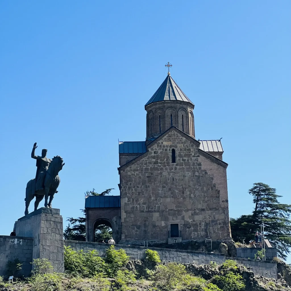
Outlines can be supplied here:
<path id="1" fill-rule="evenodd" d="M 124 269 L 128 261 L 129 256 L 124 249 L 116 250 L 115 247 L 111 245 L 106 250 L 105 255 L 105 272 L 107 273 L 107 276 L 114 278 L 117 271 Z"/>

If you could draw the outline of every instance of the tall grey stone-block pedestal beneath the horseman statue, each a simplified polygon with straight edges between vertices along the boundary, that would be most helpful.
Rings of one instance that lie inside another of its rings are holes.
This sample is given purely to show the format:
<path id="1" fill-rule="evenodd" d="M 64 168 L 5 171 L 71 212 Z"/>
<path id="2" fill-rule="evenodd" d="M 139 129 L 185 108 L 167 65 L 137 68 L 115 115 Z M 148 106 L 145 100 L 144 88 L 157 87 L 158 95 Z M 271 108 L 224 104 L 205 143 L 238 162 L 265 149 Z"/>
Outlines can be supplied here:
<path id="1" fill-rule="evenodd" d="M 17 236 L 33 237 L 33 259 L 48 259 L 54 272 L 64 272 L 63 217 L 56 208 L 42 207 L 15 221 Z"/>

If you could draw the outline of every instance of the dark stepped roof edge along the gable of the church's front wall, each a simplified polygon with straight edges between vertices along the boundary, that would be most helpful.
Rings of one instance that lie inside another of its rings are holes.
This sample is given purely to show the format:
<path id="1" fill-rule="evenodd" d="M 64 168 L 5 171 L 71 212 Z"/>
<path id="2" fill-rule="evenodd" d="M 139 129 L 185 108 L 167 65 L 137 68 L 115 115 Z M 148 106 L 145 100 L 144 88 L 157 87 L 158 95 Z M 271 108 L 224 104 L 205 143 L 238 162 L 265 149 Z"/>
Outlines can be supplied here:
<path id="1" fill-rule="evenodd" d="M 188 134 L 186 134 L 185 132 L 183 132 L 182 130 L 178 129 L 175 126 L 171 126 L 170 128 L 168 128 L 164 133 L 162 133 L 161 135 L 159 135 L 156 139 L 154 139 L 152 142 L 148 143 L 148 145 L 146 145 L 146 148 L 148 149 L 148 147 L 150 147 L 153 143 L 159 141 L 160 139 L 162 139 L 162 137 L 164 137 L 168 132 L 170 132 L 171 130 L 176 130 L 177 132 L 179 132 L 182 136 L 184 136 L 186 139 L 188 139 L 191 142 L 194 142 L 197 146 L 200 147 L 201 143 L 200 141 L 197 141 L 196 139 L 194 139 L 193 137 L 189 136 Z M 223 167 L 227 167 L 228 164 L 226 162 L 223 162 L 221 159 L 214 157 L 213 155 L 211 155 L 208 152 L 205 152 L 204 150 L 201 150 L 199 148 L 199 153 L 202 154 L 204 157 L 209 158 L 212 160 L 212 162 L 219 164 Z M 120 171 L 123 168 L 127 168 L 128 166 L 134 164 L 135 162 L 139 161 L 140 159 L 142 159 L 143 157 L 145 157 L 148 154 L 148 150 L 146 152 L 144 152 L 143 154 L 139 155 L 138 157 L 132 159 L 131 161 L 125 163 L 124 165 L 120 166 L 118 168 L 118 171 Z"/>

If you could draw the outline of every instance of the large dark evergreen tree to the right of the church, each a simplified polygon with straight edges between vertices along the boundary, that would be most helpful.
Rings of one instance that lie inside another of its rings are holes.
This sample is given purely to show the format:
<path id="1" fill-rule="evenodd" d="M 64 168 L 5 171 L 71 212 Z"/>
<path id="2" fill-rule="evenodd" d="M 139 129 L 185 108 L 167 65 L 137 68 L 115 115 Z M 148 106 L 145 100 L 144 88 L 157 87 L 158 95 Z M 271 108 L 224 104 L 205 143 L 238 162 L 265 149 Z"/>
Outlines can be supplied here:
<path id="1" fill-rule="evenodd" d="M 255 204 L 253 214 L 230 219 L 233 239 L 246 242 L 254 239 L 256 230 L 264 221 L 265 238 L 276 246 L 278 256 L 286 259 L 291 247 L 291 205 L 278 202 L 282 197 L 276 189 L 264 183 L 255 183 L 249 190 Z"/>

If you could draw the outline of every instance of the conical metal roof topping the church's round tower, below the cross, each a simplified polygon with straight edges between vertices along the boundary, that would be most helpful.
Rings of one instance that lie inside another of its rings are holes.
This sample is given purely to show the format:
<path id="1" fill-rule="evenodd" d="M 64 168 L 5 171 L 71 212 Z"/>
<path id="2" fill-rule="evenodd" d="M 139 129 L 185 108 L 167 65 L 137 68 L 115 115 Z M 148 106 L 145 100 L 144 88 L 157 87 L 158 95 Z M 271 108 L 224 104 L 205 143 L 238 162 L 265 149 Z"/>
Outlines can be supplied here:
<path id="1" fill-rule="evenodd" d="M 162 85 L 159 86 L 159 89 L 156 91 L 154 95 L 152 95 L 152 98 L 148 100 L 145 106 L 153 102 L 159 102 L 164 100 L 178 100 L 193 104 L 191 100 L 183 93 L 183 91 L 175 83 L 170 74 L 168 74 Z"/>

